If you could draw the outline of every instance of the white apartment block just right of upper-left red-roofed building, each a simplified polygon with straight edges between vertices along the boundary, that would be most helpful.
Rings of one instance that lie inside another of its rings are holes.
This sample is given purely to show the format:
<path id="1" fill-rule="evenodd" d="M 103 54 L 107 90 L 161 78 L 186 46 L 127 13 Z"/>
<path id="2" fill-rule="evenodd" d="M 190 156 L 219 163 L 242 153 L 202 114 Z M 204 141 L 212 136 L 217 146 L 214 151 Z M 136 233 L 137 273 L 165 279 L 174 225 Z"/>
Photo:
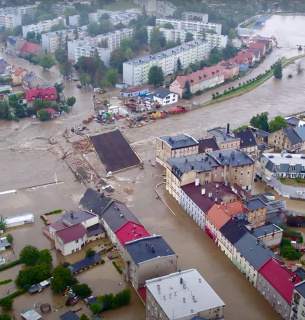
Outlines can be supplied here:
<path id="1" fill-rule="evenodd" d="M 77 28 L 78 38 L 84 38 L 88 36 L 87 26 Z M 60 47 L 60 43 L 63 45 L 66 40 L 72 41 L 75 38 L 74 28 L 59 30 L 54 32 L 43 33 L 41 35 L 42 47 L 47 53 L 53 53 Z"/>

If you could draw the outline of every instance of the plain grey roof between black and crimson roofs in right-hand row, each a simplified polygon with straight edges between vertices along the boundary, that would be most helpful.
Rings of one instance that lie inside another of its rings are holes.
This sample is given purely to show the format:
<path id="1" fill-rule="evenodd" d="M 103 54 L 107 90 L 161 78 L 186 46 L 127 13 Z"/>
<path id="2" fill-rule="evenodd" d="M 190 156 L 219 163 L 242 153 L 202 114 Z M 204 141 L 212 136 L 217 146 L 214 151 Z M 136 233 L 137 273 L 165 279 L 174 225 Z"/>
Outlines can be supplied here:
<path id="1" fill-rule="evenodd" d="M 239 251 L 256 270 L 273 256 L 271 250 L 261 242 L 258 244 L 257 242 L 256 237 L 250 233 L 245 233 L 234 245 L 236 250 Z"/>

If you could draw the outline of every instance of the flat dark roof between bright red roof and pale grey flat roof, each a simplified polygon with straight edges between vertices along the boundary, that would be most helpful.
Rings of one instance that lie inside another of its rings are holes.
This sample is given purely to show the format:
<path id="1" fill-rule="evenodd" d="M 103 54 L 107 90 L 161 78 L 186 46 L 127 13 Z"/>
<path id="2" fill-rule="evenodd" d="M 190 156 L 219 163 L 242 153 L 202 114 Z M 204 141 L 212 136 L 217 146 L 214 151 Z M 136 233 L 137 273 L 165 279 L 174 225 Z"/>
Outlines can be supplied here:
<path id="1" fill-rule="evenodd" d="M 158 257 L 175 255 L 175 252 L 161 236 L 151 236 L 128 242 L 125 244 L 125 248 L 136 264 Z"/>

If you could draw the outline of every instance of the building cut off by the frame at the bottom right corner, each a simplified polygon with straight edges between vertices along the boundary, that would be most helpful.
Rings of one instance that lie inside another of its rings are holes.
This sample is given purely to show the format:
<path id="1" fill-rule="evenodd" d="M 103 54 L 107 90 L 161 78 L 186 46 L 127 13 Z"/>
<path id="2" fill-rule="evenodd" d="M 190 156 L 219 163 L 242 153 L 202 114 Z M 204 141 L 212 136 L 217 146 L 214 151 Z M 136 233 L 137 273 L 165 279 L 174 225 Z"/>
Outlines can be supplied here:
<path id="1" fill-rule="evenodd" d="M 290 319 L 305 319 L 305 281 L 299 282 L 294 285 Z"/>

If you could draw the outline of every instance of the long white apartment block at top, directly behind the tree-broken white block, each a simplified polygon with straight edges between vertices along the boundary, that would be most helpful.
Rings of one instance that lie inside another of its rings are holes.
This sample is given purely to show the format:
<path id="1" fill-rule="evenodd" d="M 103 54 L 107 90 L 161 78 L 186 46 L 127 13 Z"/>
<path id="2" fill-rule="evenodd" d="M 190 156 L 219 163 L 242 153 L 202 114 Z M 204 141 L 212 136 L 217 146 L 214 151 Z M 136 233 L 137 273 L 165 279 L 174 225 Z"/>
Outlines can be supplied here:
<path id="1" fill-rule="evenodd" d="M 156 25 L 162 26 L 165 23 L 171 23 L 175 29 L 184 29 L 189 32 L 201 32 L 202 30 L 213 30 L 217 34 L 221 34 L 221 24 L 209 23 L 202 21 L 178 20 L 169 18 L 156 19 Z"/>

